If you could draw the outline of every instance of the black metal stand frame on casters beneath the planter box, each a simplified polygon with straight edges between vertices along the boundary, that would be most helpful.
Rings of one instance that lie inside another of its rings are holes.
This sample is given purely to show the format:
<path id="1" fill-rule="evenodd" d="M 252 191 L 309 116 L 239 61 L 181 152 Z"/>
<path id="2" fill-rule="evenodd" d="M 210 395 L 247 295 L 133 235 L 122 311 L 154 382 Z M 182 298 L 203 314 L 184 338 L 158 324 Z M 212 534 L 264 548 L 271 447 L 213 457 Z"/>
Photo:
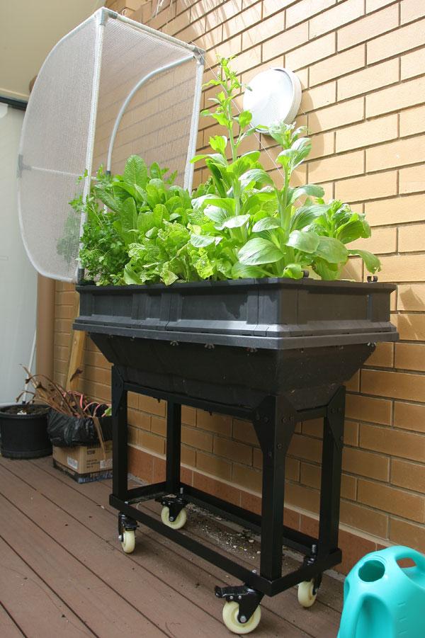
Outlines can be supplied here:
<path id="1" fill-rule="evenodd" d="M 128 392 L 165 399 L 168 403 L 165 482 L 128 489 Z M 263 453 L 261 516 L 181 482 L 182 404 L 237 416 L 254 423 Z M 297 583 L 311 580 L 314 580 L 314 588 L 317 589 L 322 572 L 341 562 L 338 528 L 344 405 L 345 388 L 340 387 L 327 406 L 315 409 L 297 411 L 286 399 L 276 396 L 266 397 L 254 410 L 244 409 L 130 384 L 123 381 L 118 368 L 114 366 L 112 369 L 113 494 L 110 496 L 110 503 L 121 513 L 120 529 L 134 529 L 135 521 L 139 521 L 240 579 L 244 583 L 243 586 L 216 588 L 215 593 L 220 598 L 237 600 L 240 603 L 239 620 L 242 617 L 241 622 L 249 619 L 264 594 L 275 596 Z M 316 539 L 283 525 L 283 503 L 285 457 L 295 424 L 318 417 L 324 419 L 324 435 L 319 538 Z M 134 503 L 152 499 L 158 499 L 169 507 L 170 520 L 175 520 L 185 504 L 192 502 L 254 532 L 261 533 L 260 573 L 246 569 L 229 557 L 205 547 L 178 530 L 169 528 L 157 518 L 139 511 L 134 506 Z M 282 576 L 283 545 L 305 555 L 304 564 L 285 576 Z"/>

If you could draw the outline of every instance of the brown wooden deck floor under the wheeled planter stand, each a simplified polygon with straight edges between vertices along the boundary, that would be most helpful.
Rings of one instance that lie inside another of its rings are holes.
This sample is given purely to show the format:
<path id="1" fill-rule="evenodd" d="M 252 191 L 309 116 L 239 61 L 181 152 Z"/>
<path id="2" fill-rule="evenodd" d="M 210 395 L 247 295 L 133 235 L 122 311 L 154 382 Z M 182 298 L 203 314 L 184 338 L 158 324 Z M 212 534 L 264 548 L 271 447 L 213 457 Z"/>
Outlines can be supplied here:
<path id="1" fill-rule="evenodd" d="M 134 554 L 123 554 L 110 491 L 110 482 L 74 483 L 50 457 L 0 457 L 1 638 L 232 635 L 213 591 L 235 579 L 142 526 Z M 190 518 L 187 529 L 210 542 L 202 517 Z M 241 560 L 252 566 L 258 557 L 248 554 Z M 341 593 L 341 582 L 325 575 L 310 610 L 300 608 L 295 588 L 265 597 L 252 635 L 335 638 Z"/>

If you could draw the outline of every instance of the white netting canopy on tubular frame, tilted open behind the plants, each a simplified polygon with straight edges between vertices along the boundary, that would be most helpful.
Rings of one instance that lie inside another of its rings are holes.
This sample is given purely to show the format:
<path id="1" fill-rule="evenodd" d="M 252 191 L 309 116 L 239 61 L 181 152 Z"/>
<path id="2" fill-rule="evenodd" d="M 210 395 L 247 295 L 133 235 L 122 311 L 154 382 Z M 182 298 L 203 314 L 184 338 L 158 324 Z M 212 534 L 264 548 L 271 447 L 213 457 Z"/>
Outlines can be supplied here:
<path id="1" fill-rule="evenodd" d="M 28 102 L 18 166 L 21 232 L 39 273 L 77 280 L 81 217 L 69 201 L 89 192 L 101 164 L 120 173 L 139 154 L 177 171 L 176 183 L 191 189 L 202 54 L 101 8 L 47 56 Z"/>

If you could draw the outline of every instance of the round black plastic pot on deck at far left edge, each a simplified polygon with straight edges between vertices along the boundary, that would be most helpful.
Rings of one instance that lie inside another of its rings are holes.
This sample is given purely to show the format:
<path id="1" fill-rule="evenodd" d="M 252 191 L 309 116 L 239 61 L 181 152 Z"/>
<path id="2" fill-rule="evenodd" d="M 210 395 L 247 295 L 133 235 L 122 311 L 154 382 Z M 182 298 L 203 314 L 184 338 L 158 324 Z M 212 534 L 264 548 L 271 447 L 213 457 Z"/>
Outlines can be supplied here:
<path id="1" fill-rule="evenodd" d="M 34 414 L 12 414 L 8 409 L 35 410 Z M 9 405 L 0 408 L 1 455 L 11 459 L 35 459 L 52 454 L 47 436 L 47 406 Z"/>

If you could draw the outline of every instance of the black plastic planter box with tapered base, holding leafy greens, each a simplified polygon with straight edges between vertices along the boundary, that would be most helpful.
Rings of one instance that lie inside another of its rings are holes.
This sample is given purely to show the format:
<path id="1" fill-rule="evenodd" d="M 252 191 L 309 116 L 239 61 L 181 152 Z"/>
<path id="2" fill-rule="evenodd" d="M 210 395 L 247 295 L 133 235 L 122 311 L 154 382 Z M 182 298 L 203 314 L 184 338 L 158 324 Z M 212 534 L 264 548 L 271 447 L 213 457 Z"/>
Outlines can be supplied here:
<path id="1" fill-rule="evenodd" d="M 256 406 L 328 403 L 375 349 L 397 341 L 394 285 L 312 279 L 77 287 L 88 332 L 126 382 Z"/>

